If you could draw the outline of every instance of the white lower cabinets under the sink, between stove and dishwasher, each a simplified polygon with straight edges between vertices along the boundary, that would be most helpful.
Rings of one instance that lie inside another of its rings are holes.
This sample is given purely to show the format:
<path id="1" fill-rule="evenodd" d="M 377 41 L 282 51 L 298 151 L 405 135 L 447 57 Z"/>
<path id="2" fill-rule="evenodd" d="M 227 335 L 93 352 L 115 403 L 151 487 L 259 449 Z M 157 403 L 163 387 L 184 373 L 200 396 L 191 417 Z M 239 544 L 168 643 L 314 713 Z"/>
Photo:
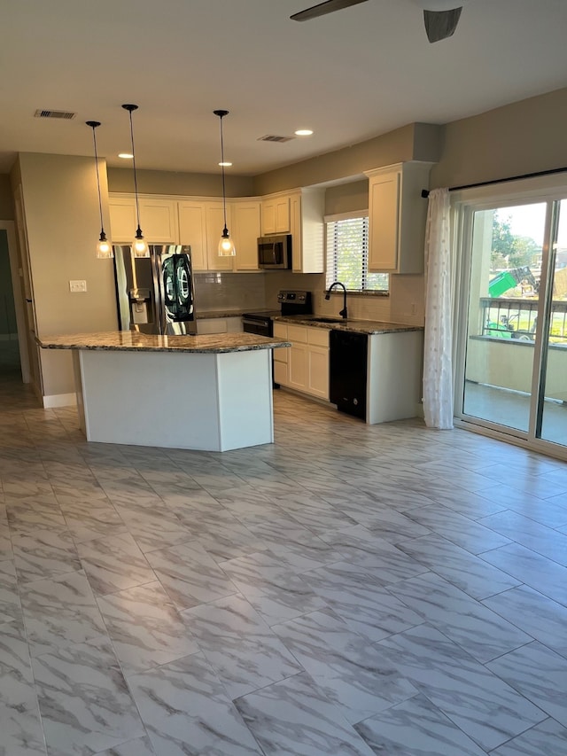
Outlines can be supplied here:
<path id="1" fill-rule="evenodd" d="M 274 336 L 291 341 L 288 349 L 274 350 L 276 383 L 329 400 L 329 331 L 274 323 Z"/>

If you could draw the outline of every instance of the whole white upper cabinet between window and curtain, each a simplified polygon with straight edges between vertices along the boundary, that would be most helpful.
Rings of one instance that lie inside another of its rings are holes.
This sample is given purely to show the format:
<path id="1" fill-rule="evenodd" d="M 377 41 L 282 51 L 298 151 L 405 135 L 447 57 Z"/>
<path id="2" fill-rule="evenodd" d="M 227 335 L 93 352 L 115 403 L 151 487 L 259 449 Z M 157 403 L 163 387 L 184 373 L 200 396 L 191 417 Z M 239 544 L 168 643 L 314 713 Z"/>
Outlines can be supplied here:
<path id="1" fill-rule="evenodd" d="M 369 177 L 369 271 L 423 273 L 431 163 L 406 162 L 365 171 Z"/>

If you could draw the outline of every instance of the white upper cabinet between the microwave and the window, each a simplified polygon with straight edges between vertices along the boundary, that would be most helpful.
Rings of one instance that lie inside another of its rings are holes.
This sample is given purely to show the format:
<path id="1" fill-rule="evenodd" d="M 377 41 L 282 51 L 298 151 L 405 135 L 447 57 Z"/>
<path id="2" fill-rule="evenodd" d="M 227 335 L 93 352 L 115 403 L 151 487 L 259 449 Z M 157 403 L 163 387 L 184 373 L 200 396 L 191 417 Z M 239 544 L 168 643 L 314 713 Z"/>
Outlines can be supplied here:
<path id="1" fill-rule="evenodd" d="M 325 191 L 321 188 L 294 191 L 290 195 L 290 206 L 293 272 L 322 273 L 325 269 Z"/>

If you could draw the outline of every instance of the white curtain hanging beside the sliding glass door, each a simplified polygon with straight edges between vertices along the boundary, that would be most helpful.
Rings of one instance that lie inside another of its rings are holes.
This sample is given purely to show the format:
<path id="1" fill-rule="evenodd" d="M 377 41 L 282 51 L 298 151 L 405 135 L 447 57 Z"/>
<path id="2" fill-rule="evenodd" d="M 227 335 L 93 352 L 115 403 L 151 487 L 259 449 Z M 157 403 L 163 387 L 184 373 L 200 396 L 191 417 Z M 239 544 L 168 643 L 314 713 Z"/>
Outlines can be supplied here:
<path id="1" fill-rule="evenodd" d="M 429 428 L 453 427 L 453 328 L 450 202 L 447 189 L 429 195 L 425 230 L 423 414 Z"/>

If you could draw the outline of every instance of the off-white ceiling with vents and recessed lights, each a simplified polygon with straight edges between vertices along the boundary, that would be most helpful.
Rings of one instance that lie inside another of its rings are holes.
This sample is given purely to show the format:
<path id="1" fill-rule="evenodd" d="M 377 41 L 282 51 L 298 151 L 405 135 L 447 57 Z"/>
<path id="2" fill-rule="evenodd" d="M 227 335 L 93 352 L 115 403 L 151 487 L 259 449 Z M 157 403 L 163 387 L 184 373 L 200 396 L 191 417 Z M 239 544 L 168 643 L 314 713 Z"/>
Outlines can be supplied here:
<path id="1" fill-rule="evenodd" d="M 565 86 L 565 0 L 465 0 L 430 44 L 416 0 L 369 0 L 298 23 L 316 0 L 0 0 L 0 172 L 17 152 L 110 166 L 257 175 L 414 121 L 446 123 Z M 76 113 L 38 119 L 37 109 Z M 308 137 L 278 144 L 260 136 Z"/>

